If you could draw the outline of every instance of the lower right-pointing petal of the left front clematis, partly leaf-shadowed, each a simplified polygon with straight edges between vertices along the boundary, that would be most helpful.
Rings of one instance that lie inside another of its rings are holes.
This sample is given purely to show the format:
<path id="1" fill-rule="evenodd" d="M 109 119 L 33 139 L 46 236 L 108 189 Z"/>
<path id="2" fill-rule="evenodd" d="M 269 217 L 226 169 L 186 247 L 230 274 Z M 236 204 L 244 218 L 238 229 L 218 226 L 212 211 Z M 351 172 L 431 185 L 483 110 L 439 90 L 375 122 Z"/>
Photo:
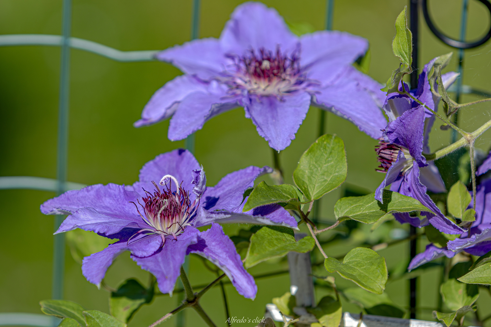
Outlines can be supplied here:
<path id="1" fill-rule="evenodd" d="M 227 210 L 208 211 L 201 207 L 193 219 L 193 224 L 195 227 L 201 227 L 215 222 L 219 224 L 274 225 L 298 229 L 295 218 L 279 204 L 263 205 L 243 213 L 244 203 L 235 208 L 233 212 Z"/>

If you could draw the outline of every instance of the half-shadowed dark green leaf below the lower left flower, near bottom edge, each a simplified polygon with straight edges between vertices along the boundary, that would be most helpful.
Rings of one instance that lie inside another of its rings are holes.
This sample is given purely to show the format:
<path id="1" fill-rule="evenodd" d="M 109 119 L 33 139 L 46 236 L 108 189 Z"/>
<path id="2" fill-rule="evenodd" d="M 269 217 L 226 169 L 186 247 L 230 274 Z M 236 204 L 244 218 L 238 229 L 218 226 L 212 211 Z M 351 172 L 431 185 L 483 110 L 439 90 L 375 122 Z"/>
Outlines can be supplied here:
<path id="1" fill-rule="evenodd" d="M 127 279 L 116 292 L 111 292 L 109 299 L 111 315 L 128 323 L 143 304 L 152 301 L 153 295 L 153 287 L 147 290 L 136 279 Z"/>

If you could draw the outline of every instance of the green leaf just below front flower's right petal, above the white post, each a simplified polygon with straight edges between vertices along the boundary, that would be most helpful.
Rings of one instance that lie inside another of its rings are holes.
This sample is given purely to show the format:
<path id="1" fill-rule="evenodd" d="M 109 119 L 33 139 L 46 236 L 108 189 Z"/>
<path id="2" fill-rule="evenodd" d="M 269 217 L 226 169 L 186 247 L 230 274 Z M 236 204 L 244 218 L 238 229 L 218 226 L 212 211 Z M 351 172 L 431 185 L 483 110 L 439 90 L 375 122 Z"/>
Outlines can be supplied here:
<path id="1" fill-rule="evenodd" d="M 264 226 L 250 238 L 245 267 L 248 269 L 260 262 L 286 255 L 290 251 L 312 251 L 315 241 L 306 236 L 295 241 L 293 229 L 280 226 Z"/>

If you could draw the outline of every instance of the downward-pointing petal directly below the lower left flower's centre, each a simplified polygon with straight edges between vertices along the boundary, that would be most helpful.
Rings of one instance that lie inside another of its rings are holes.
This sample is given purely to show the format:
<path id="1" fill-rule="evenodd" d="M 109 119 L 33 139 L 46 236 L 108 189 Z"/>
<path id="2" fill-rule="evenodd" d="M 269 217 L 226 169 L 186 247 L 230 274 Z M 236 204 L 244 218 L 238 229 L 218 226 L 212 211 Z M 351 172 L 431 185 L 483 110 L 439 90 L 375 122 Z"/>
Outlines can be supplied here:
<path id="1" fill-rule="evenodd" d="M 191 244 L 198 242 L 200 231 L 191 226 L 186 227 L 184 233 L 174 240 L 171 236 L 165 238 L 164 247 L 147 257 L 132 255 L 141 269 L 149 271 L 159 283 L 162 293 L 172 294 L 177 277 L 181 274 L 181 266 L 186 257 L 186 250 Z"/>

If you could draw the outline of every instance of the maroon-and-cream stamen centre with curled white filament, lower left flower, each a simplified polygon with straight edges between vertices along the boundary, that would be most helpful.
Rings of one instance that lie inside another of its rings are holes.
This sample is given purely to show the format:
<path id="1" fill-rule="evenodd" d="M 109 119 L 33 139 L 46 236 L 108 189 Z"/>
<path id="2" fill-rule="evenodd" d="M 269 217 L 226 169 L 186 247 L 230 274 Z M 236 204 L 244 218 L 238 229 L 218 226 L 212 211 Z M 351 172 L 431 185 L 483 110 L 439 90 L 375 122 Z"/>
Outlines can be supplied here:
<path id="1" fill-rule="evenodd" d="M 165 180 L 170 178 L 174 181 L 177 190 L 172 192 L 171 182 L 165 183 Z M 143 208 L 144 216 L 136 207 L 141 218 L 151 227 L 144 228 L 138 231 L 150 231 L 152 233 L 161 234 L 162 240 L 165 243 L 165 236 L 172 235 L 174 239 L 177 235 L 184 232 L 186 226 L 192 226 L 191 218 L 193 217 L 198 207 L 199 198 L 196 198 L 192 203 L 189 199 L 189 192 L 185 191 L 178 184 L 174 176 L 166 175 L 162 178 L 160 184 L 164 186 L 164 190 L 160 190 L 157 183 L 153 182 L 156 190 L 150 193 L 146 190 L 146 197 L 142 197 L 144 204 L 138 201 L 138 204 Z M 181 182 L 182 184 L 182 182 Z M 134 203 L 134 202 L 132 202 Z M 135 204 L 135 203 L 134 203 Z M 135 204 L 136 205 L 136 204 Z"/>

